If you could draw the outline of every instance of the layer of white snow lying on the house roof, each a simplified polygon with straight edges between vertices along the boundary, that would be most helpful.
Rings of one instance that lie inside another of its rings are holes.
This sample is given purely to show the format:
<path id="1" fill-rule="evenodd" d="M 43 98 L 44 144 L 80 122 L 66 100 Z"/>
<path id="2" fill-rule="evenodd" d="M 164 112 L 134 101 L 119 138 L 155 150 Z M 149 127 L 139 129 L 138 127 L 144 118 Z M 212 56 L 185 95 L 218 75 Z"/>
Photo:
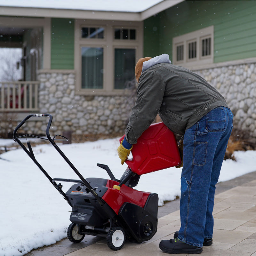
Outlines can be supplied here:
<path id="1" fill-rule="evenodd" d="M 1 0 L 0 6 L 57 8 L 89 11 L 142 12 L 161 1 L 162 0 Z"/>

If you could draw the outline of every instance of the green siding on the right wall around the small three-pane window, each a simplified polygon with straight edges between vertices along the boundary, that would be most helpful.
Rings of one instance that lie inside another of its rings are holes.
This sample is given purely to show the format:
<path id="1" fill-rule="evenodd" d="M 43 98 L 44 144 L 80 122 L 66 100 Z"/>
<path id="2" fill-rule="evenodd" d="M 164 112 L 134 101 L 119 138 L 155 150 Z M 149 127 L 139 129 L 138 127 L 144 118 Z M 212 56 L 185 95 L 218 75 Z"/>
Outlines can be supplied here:
<path id="1" fill-rule="evenodd" d="M 256 57 L 255 1 L 184 1 L 160 12 L 144 21 L 144 55 L 172 58 L 173 37 L 211 25 L 214 63 Z M 154 26 L 157 36 L 150 37 Z"/>

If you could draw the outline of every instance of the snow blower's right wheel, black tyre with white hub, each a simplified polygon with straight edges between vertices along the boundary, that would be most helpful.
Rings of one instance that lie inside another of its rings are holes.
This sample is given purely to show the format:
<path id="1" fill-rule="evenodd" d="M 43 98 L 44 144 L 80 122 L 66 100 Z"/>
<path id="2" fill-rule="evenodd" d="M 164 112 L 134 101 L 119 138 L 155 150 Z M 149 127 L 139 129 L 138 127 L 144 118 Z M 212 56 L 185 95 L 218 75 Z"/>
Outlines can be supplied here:
<path id="1" fill-rule="evenodd" d="M 107 234 L 108 247 L 111 250 L 120 250 L 125 243 L 125 232 L 123 228 L 110 228 Z"/>

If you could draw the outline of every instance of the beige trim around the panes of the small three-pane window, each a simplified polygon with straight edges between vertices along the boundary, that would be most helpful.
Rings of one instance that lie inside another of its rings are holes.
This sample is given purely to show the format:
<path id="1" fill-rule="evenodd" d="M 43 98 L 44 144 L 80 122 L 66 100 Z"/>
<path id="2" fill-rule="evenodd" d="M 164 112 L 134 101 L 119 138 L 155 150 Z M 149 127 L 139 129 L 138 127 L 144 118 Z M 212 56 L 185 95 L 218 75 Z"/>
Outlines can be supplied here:
<path id="1" fill-rule="evenodd" d="M 202 56 L 202 40 L 204 38 L 211 38 L 211 54 Z M 196 58 L 188 58 L 188 44 L 196 41 Z M 177 46 L 183 44 L 183 60 L 177 61 Z M 199 29 L 181 36 L 173 37 L 172 39 L 172 63 L 181 65 L 186 68 L 194 69 L 197 66 L 213 63 L 214 56 L 214 26 Z"/>

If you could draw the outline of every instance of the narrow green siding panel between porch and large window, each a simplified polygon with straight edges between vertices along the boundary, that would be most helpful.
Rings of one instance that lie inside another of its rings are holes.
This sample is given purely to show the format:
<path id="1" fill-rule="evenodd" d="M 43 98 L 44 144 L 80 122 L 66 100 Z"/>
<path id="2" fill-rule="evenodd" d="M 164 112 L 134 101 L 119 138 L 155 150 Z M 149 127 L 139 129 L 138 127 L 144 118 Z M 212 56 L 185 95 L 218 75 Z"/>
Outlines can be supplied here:
<path id="1" fill-rule="evenodd" d="M 51 68 L 74 69 L 74 19 L 52 18 Z"/>

